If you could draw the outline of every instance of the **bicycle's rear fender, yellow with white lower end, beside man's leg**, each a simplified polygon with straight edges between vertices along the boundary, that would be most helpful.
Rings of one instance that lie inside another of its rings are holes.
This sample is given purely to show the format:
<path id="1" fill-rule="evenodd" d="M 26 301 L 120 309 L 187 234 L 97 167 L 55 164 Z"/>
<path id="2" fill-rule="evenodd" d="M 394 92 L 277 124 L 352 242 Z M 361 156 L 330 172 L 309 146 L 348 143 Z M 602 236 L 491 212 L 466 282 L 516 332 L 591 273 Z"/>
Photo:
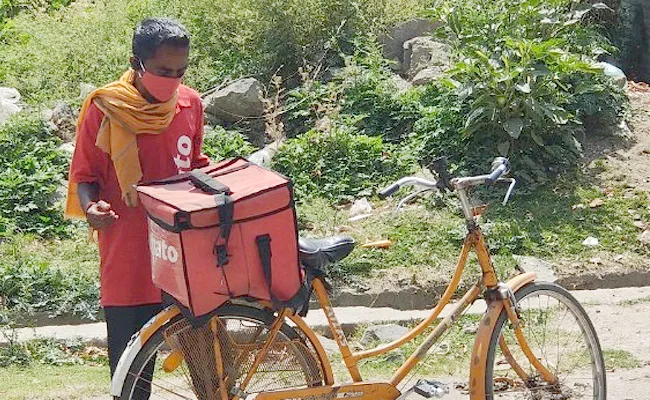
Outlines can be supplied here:
<path id="1" fill-rule="evenodd" d="M 113 380 L 111 381 L 111 396 L 119 398 L 122 395 L 126 376 L 135 357 L 153 334 L 178 314 L 180 314 L 178 307 L 175 305 L 169 306 L 151 318 L 131 337 L 115 368 L 115 374 L 113 374 Z"/>

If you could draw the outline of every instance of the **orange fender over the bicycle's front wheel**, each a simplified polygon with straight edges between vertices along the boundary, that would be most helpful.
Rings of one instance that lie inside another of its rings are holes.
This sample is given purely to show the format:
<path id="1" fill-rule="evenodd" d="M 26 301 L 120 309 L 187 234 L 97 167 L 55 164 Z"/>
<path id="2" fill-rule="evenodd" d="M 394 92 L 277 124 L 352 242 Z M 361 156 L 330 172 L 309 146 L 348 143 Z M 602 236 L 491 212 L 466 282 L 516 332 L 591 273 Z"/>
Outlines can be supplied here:
<path id="1" fill-rule="evenodd" d="M 534 272 L 526 272 L 509 280 L 506 285 L 510 287 L 512 292 L 516 292 L 522 287 L 534 282 L 537 279 L 537 274 Z M 490 347 L 490 338 L 494 330 L 499 315 L 503 310 L 503 302 L 493 301 L 488 304 L 488 309 L 481 323 L 479 324 L 476 339 L 474 340 L 474 350 L 472 350 L 472 358 L 469 372 L 469 398 L 470 400 L 485 400 L 485 374 L 487 365 L 487 353 Z"/>

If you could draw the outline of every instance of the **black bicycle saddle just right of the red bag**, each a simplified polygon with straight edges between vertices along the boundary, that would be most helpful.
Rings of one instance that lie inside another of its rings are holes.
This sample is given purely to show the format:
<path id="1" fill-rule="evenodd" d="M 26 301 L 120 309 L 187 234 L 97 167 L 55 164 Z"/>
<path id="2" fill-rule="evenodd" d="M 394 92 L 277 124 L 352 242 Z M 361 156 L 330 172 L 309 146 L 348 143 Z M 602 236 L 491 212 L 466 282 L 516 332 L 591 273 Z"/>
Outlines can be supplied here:
<path id="1" fill-rule="evenodd" d="M 300 263 L 305 268 L 322 270 L 341 261 L 354 249 L 354 239 L 349 236 L 332 236 L 322 239 L 298 238 Z"/>

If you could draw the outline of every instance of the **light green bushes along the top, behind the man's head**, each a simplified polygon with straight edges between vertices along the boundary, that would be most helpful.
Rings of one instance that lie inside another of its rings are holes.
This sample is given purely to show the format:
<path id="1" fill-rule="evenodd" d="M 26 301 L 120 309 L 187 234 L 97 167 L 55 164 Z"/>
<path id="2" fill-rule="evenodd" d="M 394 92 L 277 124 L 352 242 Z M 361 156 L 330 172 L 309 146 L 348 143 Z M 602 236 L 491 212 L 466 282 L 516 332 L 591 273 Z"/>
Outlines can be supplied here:
<path id="1" fill-rule="evenodd" d="M 80 83 L 104 84 L 128 67 L 133 28 L 149 16 L 187 26 L 193 50 L 186 80 L 200 91 L 242 75 L 268 78 L 280 67 L 292 76 L 305 61 L 336 61 L 357 33 L 381 30 L 421 8 L 415 0 L 73 2 L 7 21 L 0 82 L 31 103 L 75 99 Z"/>

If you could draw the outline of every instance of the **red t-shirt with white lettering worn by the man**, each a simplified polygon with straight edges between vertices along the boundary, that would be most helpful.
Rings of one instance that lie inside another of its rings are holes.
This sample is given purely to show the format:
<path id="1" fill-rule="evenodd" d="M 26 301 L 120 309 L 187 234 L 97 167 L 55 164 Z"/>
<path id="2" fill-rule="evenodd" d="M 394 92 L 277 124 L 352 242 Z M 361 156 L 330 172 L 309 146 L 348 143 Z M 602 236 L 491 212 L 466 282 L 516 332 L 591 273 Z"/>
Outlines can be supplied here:
<path id="1" fill-rule="evenodd" d="M 108 154 L 95 145 L 104 118 L 93 104 L 77 134 L 70 179 L 97 183 L 99 198 L 119 215 L 98 232 L 101 259 L 102 306 L 134 306 L 160 302 L 160 290 L 151 281 L 147 217 L 144 208 L 122 201 L 115 168 Z M 178 89 L 176 116 L 159 135 L 138 135 L 142 181 L 163 179 L 208 164 L 201 153 L 203 106 L 199 94 L 187 86 Z"/>

